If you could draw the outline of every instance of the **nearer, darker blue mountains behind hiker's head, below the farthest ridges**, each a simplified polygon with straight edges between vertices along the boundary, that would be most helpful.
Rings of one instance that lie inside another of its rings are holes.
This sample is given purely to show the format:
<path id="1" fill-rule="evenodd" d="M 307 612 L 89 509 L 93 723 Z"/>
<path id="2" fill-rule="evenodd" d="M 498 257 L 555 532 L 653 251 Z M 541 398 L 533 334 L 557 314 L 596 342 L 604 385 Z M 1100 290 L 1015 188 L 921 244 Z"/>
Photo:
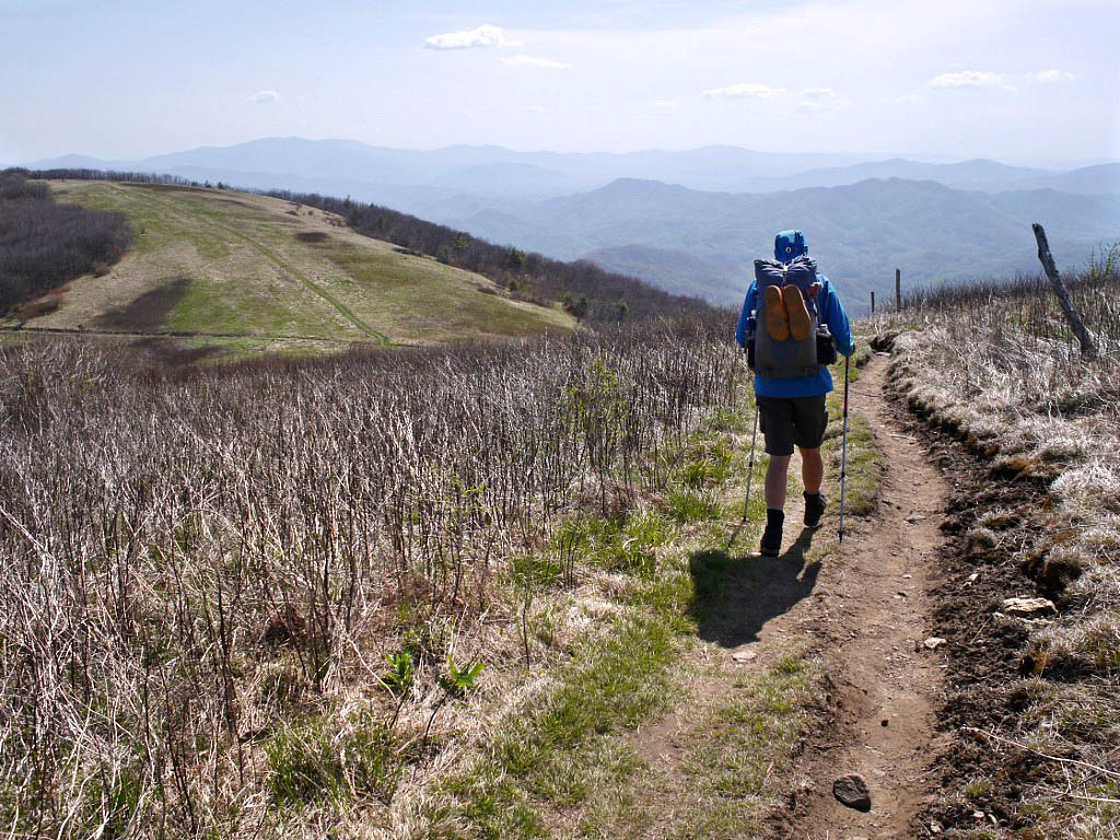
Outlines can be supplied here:
<path id="1" fill-rule="evenodd" d="M 735 304 L 756 256 L 774 233 L 800 227 L 812 253 L 857 308 L 872 289 L 1037 271 L 1032 222 L 1042 222 L 1055 256 L 1084 264 L 1102 242 L 1120 239 L 1120 198 L 1049 189 L 988 194 L 934 181 L 870 179 L 767 195 L 698 193 L 618 180 L 601 189 L 540 202 L 517 214 L 475 214 L 459 226 L 564 259 L 588 256 L 664 288 Z M 688 254 L 687 263 L 681 254 Z"/>

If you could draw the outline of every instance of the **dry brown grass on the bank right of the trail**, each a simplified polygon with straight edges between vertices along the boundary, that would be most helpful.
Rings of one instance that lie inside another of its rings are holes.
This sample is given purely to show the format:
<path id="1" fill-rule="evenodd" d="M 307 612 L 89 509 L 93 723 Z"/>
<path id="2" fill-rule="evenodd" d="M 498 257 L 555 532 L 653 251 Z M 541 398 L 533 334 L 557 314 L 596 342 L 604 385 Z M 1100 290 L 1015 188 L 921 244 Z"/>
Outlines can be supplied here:
<path id="1" fill-rule="evenodd" d="M 1025 680 L 1032 702 L 1018 737 L 1084 764 L 1039 758 L 1048 773 L 1020 809 L 1037 819 L 1037 837 L 1110 838 L 1120 822 L 1120 278 L 1098 272 L 1074 289 L 1101 348 L 1096 361 L 1071 343 L 1045 288 L 1026 281 L 915 306 L 876 326 L 897 333 L 893 379 L 913 410 L 993 472 L 1048 486 L 1047 504 L 1029 514 L 1036 539 L 1011 558 L 1060 607 L 1033 624 L 1038 676 Z M 998 528 L 1000 515 L 978 523 L 977 539 L 998 539 L 987 525 Z"/>

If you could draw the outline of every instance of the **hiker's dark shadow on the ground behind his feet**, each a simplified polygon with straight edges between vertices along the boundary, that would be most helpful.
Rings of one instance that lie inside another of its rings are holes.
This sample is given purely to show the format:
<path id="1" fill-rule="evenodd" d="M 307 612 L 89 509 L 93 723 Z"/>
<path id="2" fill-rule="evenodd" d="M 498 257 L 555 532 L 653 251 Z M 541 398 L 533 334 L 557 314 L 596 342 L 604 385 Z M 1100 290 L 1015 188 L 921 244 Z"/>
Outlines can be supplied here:
<path id="1" fill-rule="evenodd" d="M 821 569 L 820 562 L 805 566 L 813 533 L 802 530 L 778 557 L 732 556 L 722 549 L 692 554 L 694 595 L 689 612 L 700 637 L 724 647 L 756 642 L 766 622 L 812 592 Z"/>

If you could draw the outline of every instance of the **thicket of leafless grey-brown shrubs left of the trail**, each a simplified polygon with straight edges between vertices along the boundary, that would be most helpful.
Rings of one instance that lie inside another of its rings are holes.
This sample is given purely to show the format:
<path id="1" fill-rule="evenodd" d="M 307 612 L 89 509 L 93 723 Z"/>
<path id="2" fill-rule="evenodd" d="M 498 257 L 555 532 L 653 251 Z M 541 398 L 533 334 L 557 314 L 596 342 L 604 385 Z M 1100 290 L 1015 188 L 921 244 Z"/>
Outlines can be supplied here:
<path id="1" fill-rule="evenodd" d="M 417 663 L 403 702 L 430 702 L 580 487 L 656 488 L 664 448 L 732 399 L 719 326 L 186 372 L 0 351 L 6 829 L 320 834 L 408 811 L 400 763 L 439 757 L 396 724 L 385 654 Z"/>

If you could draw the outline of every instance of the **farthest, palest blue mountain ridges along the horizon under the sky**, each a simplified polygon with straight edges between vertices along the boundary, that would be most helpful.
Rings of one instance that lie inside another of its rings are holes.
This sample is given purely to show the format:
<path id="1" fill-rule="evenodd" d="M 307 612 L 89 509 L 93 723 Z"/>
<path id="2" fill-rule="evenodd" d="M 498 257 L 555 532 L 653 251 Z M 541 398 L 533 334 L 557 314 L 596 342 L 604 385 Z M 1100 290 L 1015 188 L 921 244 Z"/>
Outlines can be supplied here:
<path id="1" fill-rule="evenodd" d="M 497 146 L 410 150 L 355 140 L 288 137 L 204 146 L 141 160 L 67 155 L 28 166 L 169 172 L 254 188 L 342 189 L 362 200 L 395 202 L 401 209 L 420 213 L 461 194 L 541 199 L 595 189 L 617 178 L 732 193 L 774 193 L 895 177 L 986 192 L 1052 188 L 1120 194 L 1120 162 L 1052 171 L 982 159 L 937 164 L 884 156 L 759 152 L 725 146 L 617 153 L 520 152 Z M 262 183 L 265 178 L 270 179 L 267 185 Z"/>

